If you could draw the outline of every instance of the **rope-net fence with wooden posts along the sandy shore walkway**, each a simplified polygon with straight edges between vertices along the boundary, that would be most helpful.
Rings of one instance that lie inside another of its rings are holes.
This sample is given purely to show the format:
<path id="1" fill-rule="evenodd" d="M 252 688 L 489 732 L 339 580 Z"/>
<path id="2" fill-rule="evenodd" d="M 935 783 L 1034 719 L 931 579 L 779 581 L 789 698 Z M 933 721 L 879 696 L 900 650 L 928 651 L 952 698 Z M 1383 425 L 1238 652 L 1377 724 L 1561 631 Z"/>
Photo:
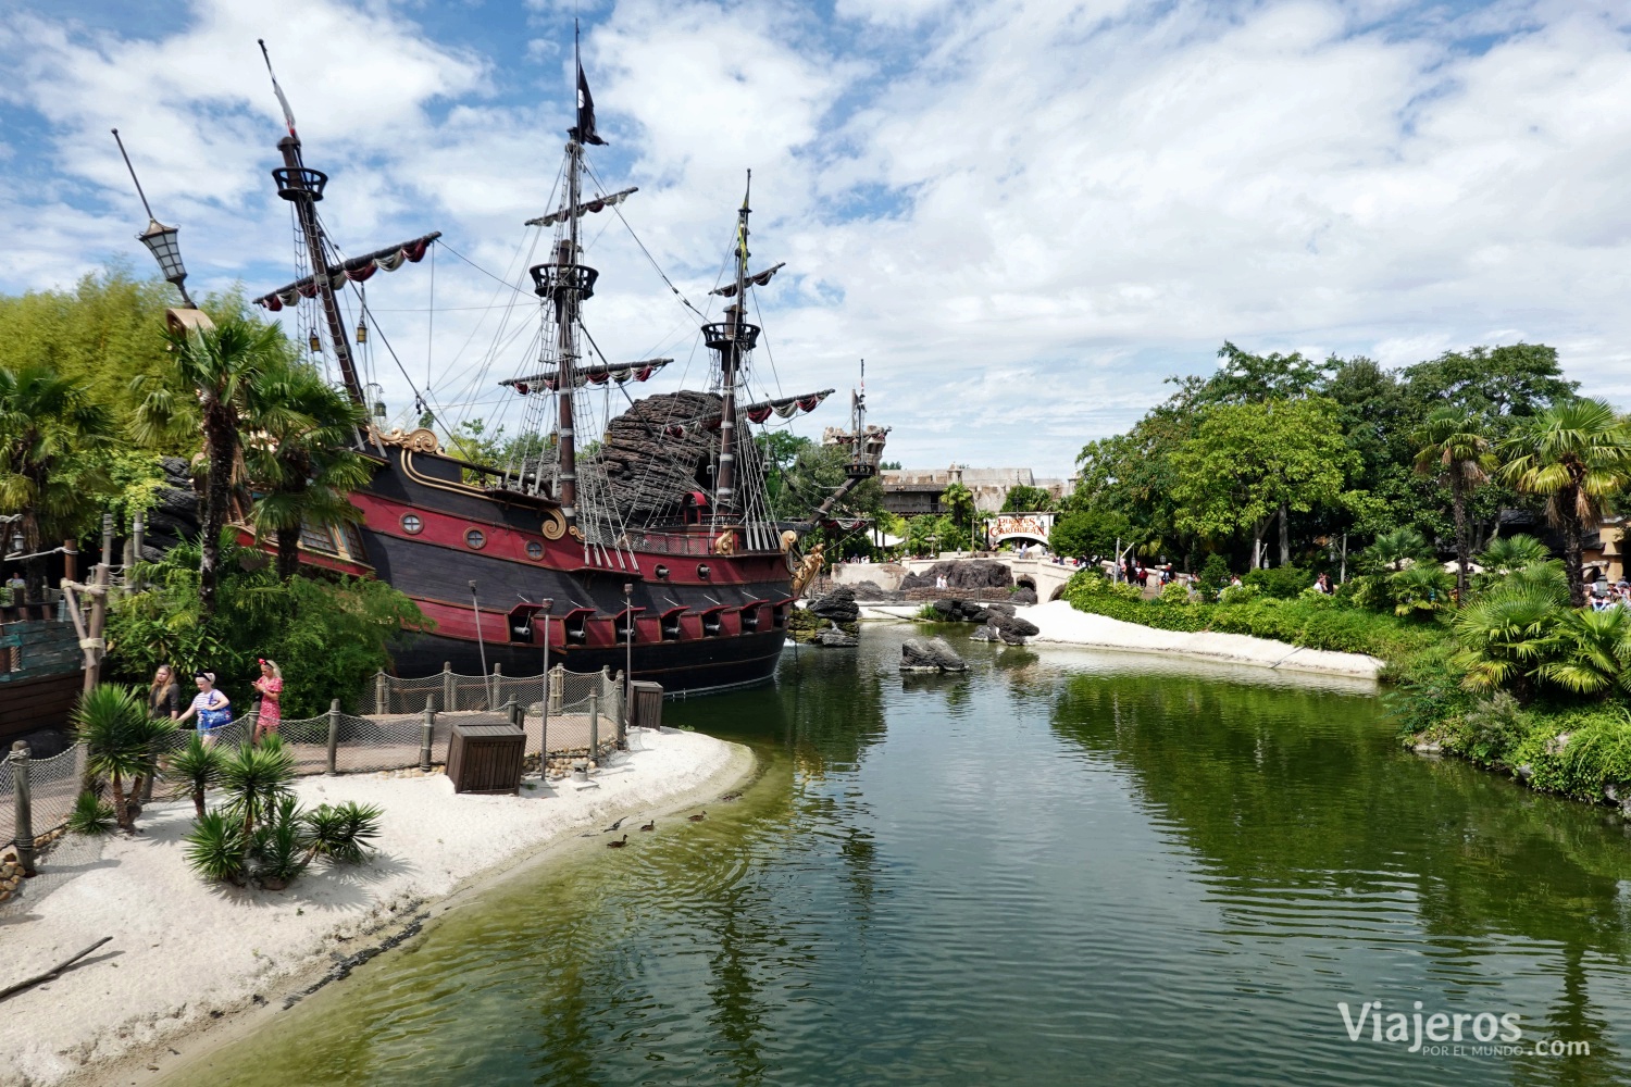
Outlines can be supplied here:
<path id="1" fill-rule="evenodd" d="M 447 699 L 444 702 L 444 698 Z M 628 717 L 623 673 L 577 673 L 556 665 L 538 676 L 465 676 L 445 671 L 422 680 L 380 675 L 362 706 L 373 714 L 346 714 L 334 701 L 329 712 L 282 720 L 277 737 L 294 758 L 297 776 L 365 774 L 390 769 L 431 769 L 447 763 L 455 725 L 520 725 L 527 733 L 530 769 L 566 769 L 574 759 L 605 761 L 625 745 Z M 444 709 L 450 706 L 452 709 Z M 254 735 L 256 712 L 215 728 L 210 742 L 236 748 Z M 178 728 L 165 738 L 165 755 L 188 746 L 194 732 Z M 33 834 L 41 838 L 67 825 L 85 779 L 86 748 L 70 746 L 51 758 L 29 758 L 28 794 Z M 18 836 L 16 766 L 0 755 L 0 844 Z M 160 771 L 155 795 L 166 792 Z"/>

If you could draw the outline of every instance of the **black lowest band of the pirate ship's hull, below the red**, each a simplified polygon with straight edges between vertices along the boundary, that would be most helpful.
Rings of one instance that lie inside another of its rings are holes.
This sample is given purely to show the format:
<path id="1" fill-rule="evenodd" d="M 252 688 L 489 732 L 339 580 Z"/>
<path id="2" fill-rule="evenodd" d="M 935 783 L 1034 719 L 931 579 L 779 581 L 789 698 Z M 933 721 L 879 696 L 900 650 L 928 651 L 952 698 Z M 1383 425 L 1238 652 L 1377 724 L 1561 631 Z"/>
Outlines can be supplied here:
<path id="1" fill-rule="evenodd" d="M 664 642 L 633 647 L 636 680 L 662 684 L 665 694 L 703 694 L 770 683 L 786 645 L 786 634 L 737 634 L 701 642 Z M 543 671 L 543 649 L 494 642 L 478 645 L 440 634 L 408 634 L 391 647 L 396 673 L 429 676 L 452 667 L 458 675 L 491 673 L 494 665 L 506 676 L 535 676 Z M 621 647 L 574 645 L 561 652 L 550 647 L 550 667 L 590 673 L 610 668 L 613 675 L 628 667 L 628 650 Z"/>

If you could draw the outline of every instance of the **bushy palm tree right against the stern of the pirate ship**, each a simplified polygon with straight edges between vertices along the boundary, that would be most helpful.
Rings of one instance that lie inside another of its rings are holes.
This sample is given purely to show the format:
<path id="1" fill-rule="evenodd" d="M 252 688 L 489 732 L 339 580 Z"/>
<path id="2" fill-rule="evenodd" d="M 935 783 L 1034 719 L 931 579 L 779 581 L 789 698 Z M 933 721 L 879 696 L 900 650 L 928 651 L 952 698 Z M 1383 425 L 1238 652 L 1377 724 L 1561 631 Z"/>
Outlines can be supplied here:
<path id="1" fill-rule="evenodd" d="M 295 363 L 254 388 L 245 464 L 256 499 L 250 521 L 277 539 L 277 575 L 300 567 L 300 530 L 362 518 L 346 495 L 369 481 L 351 447 L 369 417 L 312 367 Z"/>

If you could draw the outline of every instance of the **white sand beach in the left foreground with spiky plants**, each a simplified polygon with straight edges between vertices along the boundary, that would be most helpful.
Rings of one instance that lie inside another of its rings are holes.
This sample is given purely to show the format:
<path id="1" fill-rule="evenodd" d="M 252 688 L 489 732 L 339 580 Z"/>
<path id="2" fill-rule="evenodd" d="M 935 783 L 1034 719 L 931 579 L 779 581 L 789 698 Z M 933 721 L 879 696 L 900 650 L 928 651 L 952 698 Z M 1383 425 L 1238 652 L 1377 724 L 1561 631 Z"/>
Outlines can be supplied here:
<path id="1" fill-rule="evenodd" d="M 630 746 L 597 787 L 551 782 L 520 797 L 455 795 L 440 774 L 305 777 L 302 803 L 378 803 L 383 833 L 372 862 L 320 860 L 284 891 L 192 875 L 181 846 L 191 802 L 148 807 L 135 838 L 64 839 L 31 880 L 44 896 L 0 922 L 0 988 L 114 939 L 86 965 L 0 1004 L 0 1084 L 52 1084 L 245 1007 L 251 994 L 281 1004 L 292 986 L 279 979 L 367 947 L 360 934 L 416 903 L 617 815 L 711 797 L 752 766 L 745 748 L 693 732 L 636 730 Z M 630 818 L 623 830 L 634 826 Z"/>

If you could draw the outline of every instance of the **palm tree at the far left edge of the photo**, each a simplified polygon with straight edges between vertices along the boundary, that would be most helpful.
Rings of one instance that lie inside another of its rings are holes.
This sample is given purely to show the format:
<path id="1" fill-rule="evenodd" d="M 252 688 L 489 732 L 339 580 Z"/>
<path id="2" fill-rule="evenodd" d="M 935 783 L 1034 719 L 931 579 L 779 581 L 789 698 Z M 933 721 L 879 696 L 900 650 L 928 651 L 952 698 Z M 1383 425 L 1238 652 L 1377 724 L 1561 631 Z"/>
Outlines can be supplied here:
<path id="1" fill-rule="evenodd" d="M 39 363 L 0 367 L 0 512 L 23 515 L 28 552 L 77 528 L 99 482 L 80 458 L 113 432 L 113 414 L 86 386 Z M 29 592 L 38 595 L 44 580 L 44 559 L 29 561 Z"/>

